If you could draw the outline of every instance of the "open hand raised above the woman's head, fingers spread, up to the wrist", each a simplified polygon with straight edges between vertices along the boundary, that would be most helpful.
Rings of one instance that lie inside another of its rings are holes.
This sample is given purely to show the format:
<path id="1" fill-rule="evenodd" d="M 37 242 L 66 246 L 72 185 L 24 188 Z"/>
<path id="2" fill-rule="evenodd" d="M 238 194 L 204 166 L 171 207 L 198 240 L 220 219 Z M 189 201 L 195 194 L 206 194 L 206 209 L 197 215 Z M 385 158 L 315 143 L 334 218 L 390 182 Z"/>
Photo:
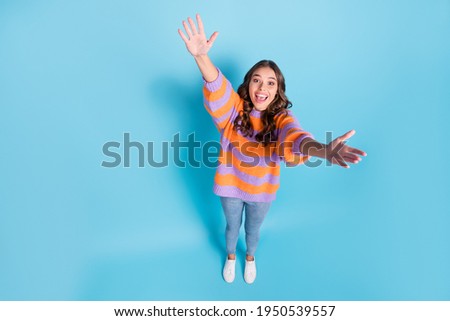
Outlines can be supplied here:
<path id="1" fill-rule="evenodd" d="M 181 29 L 178 29 L 178 33 L 186 44 L 186 48 L 189 53 L 194 57 L 199 57 L 208 54 L 209 49 L 211 49 L 214 41 L 216 40 L 219 33 L 214 32 L 211 37 L 206 39 L 205 30 L 203 28 L 203 22 L 200 15 L 196 15 L 198 30 L 195 26 L 194 20 L 190 17 L 188 18 L 188 23 L 183 21 L 184 30 L 187 36 Z"/>

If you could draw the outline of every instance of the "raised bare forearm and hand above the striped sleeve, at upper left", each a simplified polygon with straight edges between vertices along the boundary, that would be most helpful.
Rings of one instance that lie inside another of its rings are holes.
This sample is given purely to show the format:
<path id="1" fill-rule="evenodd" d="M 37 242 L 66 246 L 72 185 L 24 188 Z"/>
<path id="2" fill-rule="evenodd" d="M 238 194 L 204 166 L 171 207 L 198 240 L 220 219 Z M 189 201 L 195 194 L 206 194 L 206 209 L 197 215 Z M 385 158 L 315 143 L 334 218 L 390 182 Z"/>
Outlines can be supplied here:
<path id="1" fill-rule="evenodd" d="M 219 72 L 212 63 L 211 59 L 209 59 L 208 51 L 211 49 L 219 33 L 216 31 L 211 35 L 209 40 L 206 39 L 205 30 L 203 28 L 203 22 L 200 15 L 197 14 L 196 18 L 198 30 L 195 26 L 194 20 L 189 17 L 189 25 L 186 21 L 183 21 L 183 27 L 187 35 L 185 35 L 181 29 L 178 29 L 178 33 L 186 44 L 187 50 L 194 57 L 203 78 L 207 82 L 212 82 L 219 76 Z"/>

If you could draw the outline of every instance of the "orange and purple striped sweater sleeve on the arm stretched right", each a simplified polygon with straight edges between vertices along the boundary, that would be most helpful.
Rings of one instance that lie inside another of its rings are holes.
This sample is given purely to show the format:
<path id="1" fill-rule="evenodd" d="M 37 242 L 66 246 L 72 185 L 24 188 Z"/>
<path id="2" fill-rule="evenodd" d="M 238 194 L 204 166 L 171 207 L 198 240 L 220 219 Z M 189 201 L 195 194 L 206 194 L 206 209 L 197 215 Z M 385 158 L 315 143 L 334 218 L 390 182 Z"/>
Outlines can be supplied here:
<path id="1" fill-rule="evenodd" d="M 301 142 L 313 136 L 300 127 L 297 119 L 290 111 L 286 116 L 280 116 L 277 119 L 278 138 L 277 153 L 287 164 L 287 166 L 296 166 L 306 162 L 310 156 L 300 152 Z"/>

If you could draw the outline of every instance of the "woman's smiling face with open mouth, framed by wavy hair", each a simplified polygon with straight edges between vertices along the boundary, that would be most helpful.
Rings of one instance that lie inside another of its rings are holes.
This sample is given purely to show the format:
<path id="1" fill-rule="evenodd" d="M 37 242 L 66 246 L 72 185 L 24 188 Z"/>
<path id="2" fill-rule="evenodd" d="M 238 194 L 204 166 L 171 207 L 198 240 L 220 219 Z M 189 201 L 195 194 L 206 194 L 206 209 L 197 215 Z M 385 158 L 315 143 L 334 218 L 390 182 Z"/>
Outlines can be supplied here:
<path id="1" fill-rule="evenodd" d="M 255 109 L 266 110 L 277 95 L 278 82 L 275 72 L 270 67 L 261 67 L 253 73 L 248 93 Z"/>

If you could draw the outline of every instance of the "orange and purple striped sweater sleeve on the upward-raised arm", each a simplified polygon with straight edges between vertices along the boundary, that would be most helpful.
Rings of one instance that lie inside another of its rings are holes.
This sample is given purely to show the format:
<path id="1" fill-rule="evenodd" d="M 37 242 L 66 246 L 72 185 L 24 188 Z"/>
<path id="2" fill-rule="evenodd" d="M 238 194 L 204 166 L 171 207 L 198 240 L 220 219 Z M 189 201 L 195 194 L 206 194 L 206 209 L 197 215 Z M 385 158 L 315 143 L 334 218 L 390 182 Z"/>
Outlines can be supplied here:
<path id="1" fill-rule="evenodd" d="M 206 110 L 213 118 L 214 124 L 221 132 L 229 124 L 236 112 L 239 95 L 233 90 L 231 83 L 218 69 L 219 76 L 212 82 L 204 80 L 203 102 Z"/>

